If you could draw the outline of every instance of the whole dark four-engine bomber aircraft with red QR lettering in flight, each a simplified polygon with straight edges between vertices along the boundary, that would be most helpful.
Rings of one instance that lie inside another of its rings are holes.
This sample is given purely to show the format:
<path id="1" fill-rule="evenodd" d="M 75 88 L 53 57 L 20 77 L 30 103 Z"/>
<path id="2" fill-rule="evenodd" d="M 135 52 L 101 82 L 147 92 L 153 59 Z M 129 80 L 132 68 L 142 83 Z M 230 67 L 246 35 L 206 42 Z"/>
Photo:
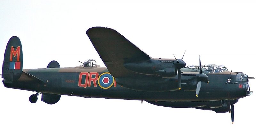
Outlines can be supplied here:
<path id="1" fill-rule="evenodd" d="M 4 54 L 4 86 L 35 91 L 29 97 L 31 103 L 39 93 L 48 104 L 57 103 L 61 95 L 145 100 L 165 107 L 231 112 L 232 123 L 234 104 L 253 93 L 250 77 L 229 72 L 225 66 L 201 66 L 199 58 L 199 65 L 185 67 L 183 57 L 151 58 L 110 28 L 89 28 L 87 35 L 107 68 L 88 60 L 77 67 L 60 68 L 51 61 L 45 69 L 23 70 L 21 42 L 13 36 Z"/>

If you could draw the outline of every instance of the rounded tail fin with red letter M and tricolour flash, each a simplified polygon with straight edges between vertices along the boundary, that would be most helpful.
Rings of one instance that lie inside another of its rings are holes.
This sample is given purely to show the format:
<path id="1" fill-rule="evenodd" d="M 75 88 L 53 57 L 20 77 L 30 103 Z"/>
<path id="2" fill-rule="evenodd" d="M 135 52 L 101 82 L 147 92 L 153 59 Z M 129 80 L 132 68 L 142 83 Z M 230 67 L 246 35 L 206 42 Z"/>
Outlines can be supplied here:
<path id="1" fill-rule="evenodd" d="M 23 54 L 20 39 L 16 36 L 10 38 L 4 53 L 2 78 L 16 81 L 22 74 Z"/>

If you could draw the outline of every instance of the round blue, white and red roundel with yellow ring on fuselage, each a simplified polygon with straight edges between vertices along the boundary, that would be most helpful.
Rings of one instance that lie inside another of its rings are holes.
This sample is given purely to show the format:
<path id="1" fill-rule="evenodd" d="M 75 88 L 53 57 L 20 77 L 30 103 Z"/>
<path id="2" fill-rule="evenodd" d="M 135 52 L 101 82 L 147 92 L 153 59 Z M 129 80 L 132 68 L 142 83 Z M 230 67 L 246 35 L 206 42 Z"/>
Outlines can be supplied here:
<path id="1" fill-rule="evenodd" d="M 102 73 L 98 78 L 98 84 L 103 89 L 108 89 L 114 84 L 114 77 L 110 73 Z"/>

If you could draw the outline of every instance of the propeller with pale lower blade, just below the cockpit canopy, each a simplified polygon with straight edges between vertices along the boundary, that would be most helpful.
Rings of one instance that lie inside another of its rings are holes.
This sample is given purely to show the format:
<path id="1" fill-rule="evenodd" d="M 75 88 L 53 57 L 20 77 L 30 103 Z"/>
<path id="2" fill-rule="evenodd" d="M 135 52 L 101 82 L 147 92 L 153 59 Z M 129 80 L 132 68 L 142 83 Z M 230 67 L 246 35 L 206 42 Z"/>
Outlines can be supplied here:
<path id="1" fill-rule="evenodd" d="M 201 57 L 199 55 L 199 74 L 197 76 L 197 79 L 199 80 L 196 86 L 196 97 L 199 95 L 199 91 L 201 89 L 202 81 L 209 83 L 208 76 L 204 73 L 202 73 L 202 66 L 201 66 Z"/>

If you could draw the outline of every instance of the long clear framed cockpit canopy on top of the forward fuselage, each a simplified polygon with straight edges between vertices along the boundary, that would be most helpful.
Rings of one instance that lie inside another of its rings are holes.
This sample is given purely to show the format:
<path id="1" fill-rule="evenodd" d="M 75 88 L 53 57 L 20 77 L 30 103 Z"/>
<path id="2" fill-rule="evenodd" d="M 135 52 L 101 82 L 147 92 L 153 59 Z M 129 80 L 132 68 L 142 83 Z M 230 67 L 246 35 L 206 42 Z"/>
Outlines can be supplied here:
<path id="1" fill-rule="evenodd" d="M 201 66 L 203 71 L 207 71 L 209 73 L 222 73 L 224 71 L 228 71 L 227 67 L 223 65 L 209 64 L 209 65 L 201 65 Z M 190 68 L 190 69 L 199 71 L 199 65 L 187 66 L 185 68 Z"/>

